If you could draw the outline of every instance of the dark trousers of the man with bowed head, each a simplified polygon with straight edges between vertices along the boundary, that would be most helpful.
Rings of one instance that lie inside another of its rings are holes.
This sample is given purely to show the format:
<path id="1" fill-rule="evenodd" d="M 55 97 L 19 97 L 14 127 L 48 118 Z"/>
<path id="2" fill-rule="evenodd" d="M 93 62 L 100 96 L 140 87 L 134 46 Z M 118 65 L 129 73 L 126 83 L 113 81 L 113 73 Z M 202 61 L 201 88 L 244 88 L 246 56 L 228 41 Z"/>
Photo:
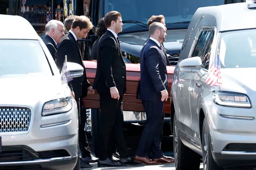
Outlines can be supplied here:
<path id="1" fill-rule="evenodd" d="M 79 143 L 79 149 L 81 151 L 82 157 L 88 157 L 92 153 L 89 148 L 88 140 L 86 137 L 86 132 L 85 132 L 85 123 L 86 123 L 86 113 L 84 109 L 84 104 L 83 101 L 78 99 L 75 99 L 77 103 L 77 109 L 78 109 L 78 119 L 79 119 L 79 127 L 78 127 L 78 143 Z"/>

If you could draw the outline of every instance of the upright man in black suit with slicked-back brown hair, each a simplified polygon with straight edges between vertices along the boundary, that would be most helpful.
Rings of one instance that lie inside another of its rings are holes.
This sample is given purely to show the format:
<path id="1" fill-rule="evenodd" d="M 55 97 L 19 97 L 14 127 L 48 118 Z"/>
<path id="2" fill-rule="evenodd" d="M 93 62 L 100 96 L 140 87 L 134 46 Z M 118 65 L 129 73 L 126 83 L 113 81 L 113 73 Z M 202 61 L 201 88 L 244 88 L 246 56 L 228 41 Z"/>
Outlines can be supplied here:
<path id="1" fill-rule="evenodd" d="M 122 31 L 122 17 L 117 11 L 110 11 L 104 17 L 107 31 L 98 42 L 97 71 L 93 88 L 100 95 L 98 166 L 120 166 L 133 164 L 128 156 L 123 133 L 123 94 L 126 90 L 126 67 L 122 59 L 117 34 Z M 120 154 L 120 163 L 108 156 L 109 136 L 114 131 Z"/>

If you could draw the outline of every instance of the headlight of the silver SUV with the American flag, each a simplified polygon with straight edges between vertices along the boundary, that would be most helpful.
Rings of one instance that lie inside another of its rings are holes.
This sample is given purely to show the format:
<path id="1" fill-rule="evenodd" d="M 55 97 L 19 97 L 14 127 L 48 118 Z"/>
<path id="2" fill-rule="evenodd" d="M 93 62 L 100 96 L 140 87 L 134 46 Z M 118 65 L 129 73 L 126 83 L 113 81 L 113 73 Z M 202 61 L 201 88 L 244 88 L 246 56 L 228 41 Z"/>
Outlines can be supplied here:
<path id="1" fill-rule="evenodd" d="M 221 106 L 251 108 L 251 102 L 247 95 L 232 92 L 213 92 L 214 103 Z"/>

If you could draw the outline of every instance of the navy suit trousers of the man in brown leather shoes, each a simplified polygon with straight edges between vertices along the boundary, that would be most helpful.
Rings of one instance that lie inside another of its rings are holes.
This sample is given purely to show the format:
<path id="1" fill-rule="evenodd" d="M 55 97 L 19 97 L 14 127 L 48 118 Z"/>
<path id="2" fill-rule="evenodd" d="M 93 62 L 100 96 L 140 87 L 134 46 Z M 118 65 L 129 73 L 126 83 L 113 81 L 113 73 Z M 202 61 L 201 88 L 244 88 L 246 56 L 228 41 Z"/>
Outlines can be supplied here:
<path id="1" fill-rule="evenodd" d="M 164 122 L 164 102 L 142 100 L 142 104 L 145 108 L 147 120 L 135 155 L 139 157 L 148 157 L 148 152 L 151 152 L 151 159 L 162 158 L 163 153 L 159 144 Z"/>

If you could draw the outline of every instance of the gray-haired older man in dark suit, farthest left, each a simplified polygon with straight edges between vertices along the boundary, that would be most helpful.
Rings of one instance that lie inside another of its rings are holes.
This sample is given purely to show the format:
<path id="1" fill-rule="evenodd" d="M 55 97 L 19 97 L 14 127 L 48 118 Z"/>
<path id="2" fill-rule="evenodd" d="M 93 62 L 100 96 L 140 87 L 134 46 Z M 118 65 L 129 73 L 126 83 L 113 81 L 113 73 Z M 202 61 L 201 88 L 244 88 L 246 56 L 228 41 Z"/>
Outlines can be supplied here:
<path id="1" fill-rule="evenodd" d="M 52 54 L 54 61 L 56 62 L 57 56 L 57 46 L 60 42 L 60 39 L 65 35 L 64 33 L 64 24 L 58 20 L 50 20 L 45 25 L 45 37 L 43 42 L 46 47 Z"/>

